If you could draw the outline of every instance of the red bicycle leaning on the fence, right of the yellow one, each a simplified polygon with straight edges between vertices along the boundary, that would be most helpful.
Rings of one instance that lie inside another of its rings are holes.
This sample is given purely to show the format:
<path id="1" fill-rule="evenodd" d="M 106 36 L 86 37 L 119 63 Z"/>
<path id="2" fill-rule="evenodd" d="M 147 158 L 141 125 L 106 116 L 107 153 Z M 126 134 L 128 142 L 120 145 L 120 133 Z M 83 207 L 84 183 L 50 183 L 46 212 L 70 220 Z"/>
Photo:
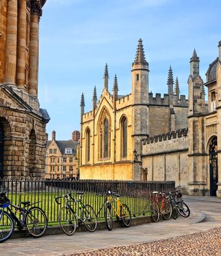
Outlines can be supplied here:
<path id="1" fill-rule="evenodd" d="M 168 201 L 168 197 L 165 197 L 164 193 L 152 192 L 155 195 L 155 198 L 151 198 L 151 219 L 155 222 L 159 221 L 160 213 L 164 220 L 169 220 L 172 215 L 172 206 Z M 159 202 L 161 201 L 161 202 Z M 161 203 L 161 205 L 160 205 Z"/>

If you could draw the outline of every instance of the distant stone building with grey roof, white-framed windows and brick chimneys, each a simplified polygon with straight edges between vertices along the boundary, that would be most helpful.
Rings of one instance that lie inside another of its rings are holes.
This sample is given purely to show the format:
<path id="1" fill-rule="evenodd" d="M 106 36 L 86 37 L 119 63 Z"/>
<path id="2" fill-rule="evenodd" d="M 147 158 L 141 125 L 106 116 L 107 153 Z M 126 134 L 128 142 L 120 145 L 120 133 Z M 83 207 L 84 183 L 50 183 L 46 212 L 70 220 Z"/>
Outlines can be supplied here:
<path id="1" fill-rule="evenodd" d="M 45 154 L 45 178 L 77 178 L 77 145 L 79 131 L 72 133 L 72 140 L 57 141 L 56 132 L 47 142 Z"/>

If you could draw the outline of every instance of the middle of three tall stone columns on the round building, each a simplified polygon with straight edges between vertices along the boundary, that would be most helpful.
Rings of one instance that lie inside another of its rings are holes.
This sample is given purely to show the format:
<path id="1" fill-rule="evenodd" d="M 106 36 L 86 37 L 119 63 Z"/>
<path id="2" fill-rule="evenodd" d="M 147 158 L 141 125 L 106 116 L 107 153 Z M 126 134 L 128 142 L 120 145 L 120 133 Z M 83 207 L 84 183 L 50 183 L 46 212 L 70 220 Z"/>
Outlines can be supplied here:
<path id="1" fill-rule="evenodd" d="M 16 84 L 25 90 L 26 0 L 19 1 Z"/>

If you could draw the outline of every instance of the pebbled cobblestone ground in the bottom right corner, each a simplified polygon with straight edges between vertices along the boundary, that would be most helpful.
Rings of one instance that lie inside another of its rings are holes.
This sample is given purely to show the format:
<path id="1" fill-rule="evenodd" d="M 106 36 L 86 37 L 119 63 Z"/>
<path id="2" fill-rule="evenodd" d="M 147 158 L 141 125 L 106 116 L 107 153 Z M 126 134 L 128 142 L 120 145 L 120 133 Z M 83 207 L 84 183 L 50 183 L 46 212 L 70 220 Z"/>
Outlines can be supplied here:
<path id="1" fill-rule="evenodd" d="M 75 256 L 91 255 L 154 255 L 154 256 L 220 256 L 221 228 L 201 233 L 179 236 L 157 242 L 135 244 L 132 246 L 112 247 L 72 254 Z"/>

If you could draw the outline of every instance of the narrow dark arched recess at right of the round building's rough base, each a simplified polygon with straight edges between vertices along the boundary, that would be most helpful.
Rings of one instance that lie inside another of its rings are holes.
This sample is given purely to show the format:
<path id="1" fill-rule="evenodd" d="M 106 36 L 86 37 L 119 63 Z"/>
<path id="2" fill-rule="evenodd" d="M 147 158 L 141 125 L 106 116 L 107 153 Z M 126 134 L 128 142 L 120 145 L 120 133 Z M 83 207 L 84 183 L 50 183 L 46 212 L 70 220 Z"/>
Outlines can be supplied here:
<path id="1" fill-rule="evenodd" d="M 31 130 L 29 135 L 29 177 L 34 177 L 36 173 L 36 134 Z"/>

